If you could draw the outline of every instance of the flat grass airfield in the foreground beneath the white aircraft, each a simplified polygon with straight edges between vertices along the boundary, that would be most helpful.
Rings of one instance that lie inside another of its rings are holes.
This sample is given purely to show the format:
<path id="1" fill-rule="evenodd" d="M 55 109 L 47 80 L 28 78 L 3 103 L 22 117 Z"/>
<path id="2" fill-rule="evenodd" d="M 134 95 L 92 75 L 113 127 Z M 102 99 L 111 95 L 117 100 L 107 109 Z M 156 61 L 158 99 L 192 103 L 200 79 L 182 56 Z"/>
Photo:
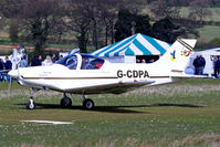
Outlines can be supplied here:
<path id="1" fill-rule="evenodd" d="M 144 87 L 122 95 L 92 95 L 96 108 L 84 111 L 81 96 L 63 109 L 62 94 L 38 92 L 36 109 L 27 111 L 29 90 L 0 83 L 0 146 L 220 146 L 220 81 L 189 80 Z M 72 125 L 21 123 L 64 120 Z"/>

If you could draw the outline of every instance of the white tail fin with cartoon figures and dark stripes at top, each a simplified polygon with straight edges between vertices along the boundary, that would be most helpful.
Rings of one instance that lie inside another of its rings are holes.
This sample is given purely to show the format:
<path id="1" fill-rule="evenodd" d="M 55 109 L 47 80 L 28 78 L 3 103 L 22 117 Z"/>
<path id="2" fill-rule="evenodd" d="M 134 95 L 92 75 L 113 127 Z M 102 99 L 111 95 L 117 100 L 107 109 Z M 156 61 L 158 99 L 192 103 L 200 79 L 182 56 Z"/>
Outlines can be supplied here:
<path id="1" fill-rule="evenodd" d="M 177 39 L 167 52 L 155 62 L 155 66 L 163 73 L 182 75 L 188 65 L 190 54 L 196 45 L 195 39 Z"/>

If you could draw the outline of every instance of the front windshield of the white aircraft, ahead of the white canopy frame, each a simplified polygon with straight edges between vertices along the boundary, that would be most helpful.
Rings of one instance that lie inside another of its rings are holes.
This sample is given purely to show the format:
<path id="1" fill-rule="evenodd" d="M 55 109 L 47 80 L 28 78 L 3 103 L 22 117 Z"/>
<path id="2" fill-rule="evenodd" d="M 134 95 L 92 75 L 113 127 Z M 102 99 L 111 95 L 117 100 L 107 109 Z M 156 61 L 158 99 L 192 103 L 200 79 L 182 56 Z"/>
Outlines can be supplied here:
<path id="1" fill-rule="evenodd" d="M 77 56 L 74 54 L 67 55 L 55 62 L 56 64 L 62 64 L 67 66 L 70 70 L 75 70 L 77 66 Z"/>

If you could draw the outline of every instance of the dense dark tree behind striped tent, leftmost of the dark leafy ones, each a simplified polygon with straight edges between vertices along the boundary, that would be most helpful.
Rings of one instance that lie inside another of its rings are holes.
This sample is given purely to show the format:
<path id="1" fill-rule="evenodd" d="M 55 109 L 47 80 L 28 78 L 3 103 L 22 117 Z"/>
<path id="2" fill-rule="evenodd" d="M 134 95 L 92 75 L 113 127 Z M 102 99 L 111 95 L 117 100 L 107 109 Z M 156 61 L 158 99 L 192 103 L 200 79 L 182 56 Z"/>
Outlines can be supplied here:
<path id="1" fill-rule="evenodd" d="M 119 10 L 118 19 L 115 23 L 115 41 L 121 41 L 132 35 L 133 14 L 128 10 Z"/>

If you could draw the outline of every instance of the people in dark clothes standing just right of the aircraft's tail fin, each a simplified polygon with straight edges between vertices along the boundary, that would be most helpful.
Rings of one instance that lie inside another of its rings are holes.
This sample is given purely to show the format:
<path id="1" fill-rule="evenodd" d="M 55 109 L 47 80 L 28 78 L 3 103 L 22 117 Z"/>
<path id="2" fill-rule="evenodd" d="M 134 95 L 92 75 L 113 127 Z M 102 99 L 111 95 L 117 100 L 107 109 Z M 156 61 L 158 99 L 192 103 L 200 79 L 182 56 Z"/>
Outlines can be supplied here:
<path id="1" fill-rule="evenodd" d="M 206 66 L 205 57 L 202 55 L 197 55 L 197 57 L 193 60 L 193 66 L 195 66 L 195 74 L 202 75 L 203 69 Z"/>

